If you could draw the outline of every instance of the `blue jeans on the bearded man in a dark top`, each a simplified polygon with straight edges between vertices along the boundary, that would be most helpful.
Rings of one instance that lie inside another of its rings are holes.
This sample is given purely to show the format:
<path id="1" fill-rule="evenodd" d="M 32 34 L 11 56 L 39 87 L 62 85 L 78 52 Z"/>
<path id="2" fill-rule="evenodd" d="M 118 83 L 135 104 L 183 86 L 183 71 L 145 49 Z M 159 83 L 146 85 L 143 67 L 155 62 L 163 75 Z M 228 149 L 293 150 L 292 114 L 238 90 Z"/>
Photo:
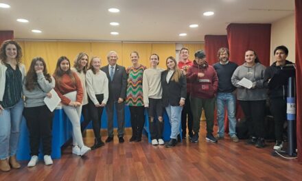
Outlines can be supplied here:
<path id="1" fill-rule="evenodd" d="M 233 93 L 218 93 L 217 95 L 218 135 L 224 136 L 224 108 L 227 108 L 229 118 L 229 134 L 236 135 L 236 97 Z"/>

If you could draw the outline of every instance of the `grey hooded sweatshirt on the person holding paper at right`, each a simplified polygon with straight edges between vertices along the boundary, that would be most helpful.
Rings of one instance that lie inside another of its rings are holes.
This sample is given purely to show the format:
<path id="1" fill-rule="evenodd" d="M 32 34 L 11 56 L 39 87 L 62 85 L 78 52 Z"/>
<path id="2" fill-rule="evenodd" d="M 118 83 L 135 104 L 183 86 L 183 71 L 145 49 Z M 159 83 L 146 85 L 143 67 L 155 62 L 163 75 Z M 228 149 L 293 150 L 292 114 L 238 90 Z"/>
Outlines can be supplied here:
<path id="1" fill-rule="evenodd" d="M 266 67 L 259 62 L 253 67 L 246 67 L 245 63 L 237 67 L 231 77 L 231 82 L 237 87 L 237 99 L 241 101 L 259 101 L 266 100 L 267 90 L 264 88 L 264 71 Z M 251 82 L 256 82 L 255 88 L 244 88 L 237 84 L 245 77 Z"/>

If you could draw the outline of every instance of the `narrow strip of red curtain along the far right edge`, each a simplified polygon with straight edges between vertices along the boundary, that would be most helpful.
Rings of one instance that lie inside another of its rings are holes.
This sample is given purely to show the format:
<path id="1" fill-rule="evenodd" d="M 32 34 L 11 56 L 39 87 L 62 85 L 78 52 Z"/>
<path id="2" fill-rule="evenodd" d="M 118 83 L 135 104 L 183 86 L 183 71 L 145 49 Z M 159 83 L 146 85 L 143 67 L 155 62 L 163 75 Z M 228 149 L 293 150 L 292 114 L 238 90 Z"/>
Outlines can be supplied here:
<path id="1" fill-rule="evenodd" d="M 295 1 L 296 21 L 296 84 L 297 84 L 297 147 L 298 161 L 302 162 L 302 1 Z"/>

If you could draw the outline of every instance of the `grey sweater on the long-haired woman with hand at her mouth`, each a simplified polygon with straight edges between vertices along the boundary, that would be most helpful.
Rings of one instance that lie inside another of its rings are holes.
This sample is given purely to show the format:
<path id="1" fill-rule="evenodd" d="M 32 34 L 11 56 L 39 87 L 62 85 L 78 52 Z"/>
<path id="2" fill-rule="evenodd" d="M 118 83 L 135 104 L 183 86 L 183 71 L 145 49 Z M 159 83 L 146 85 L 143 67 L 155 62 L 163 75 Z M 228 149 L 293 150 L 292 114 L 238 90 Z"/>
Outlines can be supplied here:
<path id="1" fill-rule="evenodd" d="M 38 84 L 34 86 L 34 90 L 27 90 L 25 88 L 25 80 L 23 81 L 23 94 L 25 96 L 25 108 L 32 108 L 37 106 L 43 106 L 44 98 L 49 91 L 54 88 L 55 80 L 54 77 L 51 77 L 51 82 L 45 79 L 43 73 L 37 74 Z"/>

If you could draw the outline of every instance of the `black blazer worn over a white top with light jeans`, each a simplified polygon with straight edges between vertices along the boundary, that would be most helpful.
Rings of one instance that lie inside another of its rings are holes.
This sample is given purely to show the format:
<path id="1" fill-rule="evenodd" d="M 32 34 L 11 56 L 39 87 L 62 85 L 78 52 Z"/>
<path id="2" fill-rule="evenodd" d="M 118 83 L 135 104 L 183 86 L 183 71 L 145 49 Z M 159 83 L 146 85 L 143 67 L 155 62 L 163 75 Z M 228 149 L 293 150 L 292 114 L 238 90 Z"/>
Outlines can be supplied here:
<path id="1" fill-rule="evenodd" d="M 171 80 L 174 72 L 170 77 L 169 83 L 167 83 L 167 72 L 168 71 L 165 70 L 161 73 L 161 86 L 163 88 L 162 104 L 164 107 L 169 106 L 169 104 L 171 106 L 179 106 L 181 97 L 187 97 L 187 79 L 185 75 L 182 74 L 178 82 Z"/>

